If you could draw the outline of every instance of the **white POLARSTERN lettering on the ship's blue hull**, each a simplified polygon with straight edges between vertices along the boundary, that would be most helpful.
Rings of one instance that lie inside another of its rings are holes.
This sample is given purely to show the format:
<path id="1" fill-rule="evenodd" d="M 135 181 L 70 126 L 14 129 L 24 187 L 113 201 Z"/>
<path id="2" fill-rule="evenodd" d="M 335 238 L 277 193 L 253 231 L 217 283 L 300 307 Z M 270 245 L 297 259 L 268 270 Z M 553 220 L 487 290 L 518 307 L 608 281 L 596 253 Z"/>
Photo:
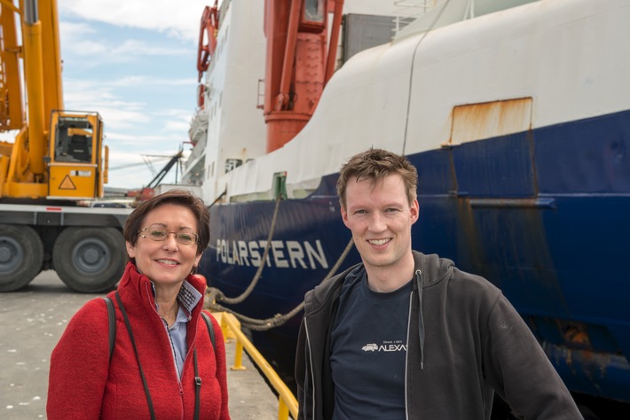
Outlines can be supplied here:
<path id="1" fill-rule="evenodd" d="M 267 241 L 228 241 L 217 239 L 217 261 L 245 267 L 260 267 Z M 326 254 L 319 239 L 309 241 L 272 241 L 267 267 L 328 268 Z"/>

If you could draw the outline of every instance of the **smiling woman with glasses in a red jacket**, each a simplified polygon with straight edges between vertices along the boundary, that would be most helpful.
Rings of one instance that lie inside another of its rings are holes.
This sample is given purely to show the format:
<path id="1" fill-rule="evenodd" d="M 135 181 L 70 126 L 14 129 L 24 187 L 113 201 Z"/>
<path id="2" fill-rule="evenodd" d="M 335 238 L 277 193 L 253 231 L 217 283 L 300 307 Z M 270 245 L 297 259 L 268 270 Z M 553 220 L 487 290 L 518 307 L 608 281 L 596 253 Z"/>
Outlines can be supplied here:
<path id="1" fill-rule="evenodd" d="M 208 209 L 168 191 L 138 206 L 123 234 L 130 261 L 108 295 L 113 351 L 106 301 L 92 299 L 52 351 L 48 418 L 229 419 L 223 336 L 210 315 L 213 348 L 206 284 L 192 275 L 209 243 Z"/>

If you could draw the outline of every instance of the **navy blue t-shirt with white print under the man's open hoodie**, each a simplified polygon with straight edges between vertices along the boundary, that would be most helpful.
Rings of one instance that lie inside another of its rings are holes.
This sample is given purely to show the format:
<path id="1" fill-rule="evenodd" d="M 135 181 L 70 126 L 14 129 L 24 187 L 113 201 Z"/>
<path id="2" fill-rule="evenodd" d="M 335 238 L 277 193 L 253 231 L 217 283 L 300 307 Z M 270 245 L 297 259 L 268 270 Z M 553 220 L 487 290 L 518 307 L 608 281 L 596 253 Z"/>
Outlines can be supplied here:
<path id="1" fill-rule="evenodd" d="M 405 418 L 405 359 L 412 282 L 373 292 L 343 285 L 332 331 L 333 418 Z"/>

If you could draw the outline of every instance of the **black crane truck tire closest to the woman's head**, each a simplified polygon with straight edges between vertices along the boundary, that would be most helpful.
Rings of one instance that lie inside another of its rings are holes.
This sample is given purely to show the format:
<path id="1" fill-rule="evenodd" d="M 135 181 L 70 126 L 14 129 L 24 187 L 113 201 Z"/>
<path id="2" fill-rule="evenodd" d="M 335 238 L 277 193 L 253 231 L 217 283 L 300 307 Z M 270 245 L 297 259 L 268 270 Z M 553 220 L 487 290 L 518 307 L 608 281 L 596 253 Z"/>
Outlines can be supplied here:
<path id="1" fill-rule="evenodd" d="M 114 228 L 66 228 L 52 249 L 53 267 L 76 292 L 111 290 L 126 262 L 122 233 Z"/>

